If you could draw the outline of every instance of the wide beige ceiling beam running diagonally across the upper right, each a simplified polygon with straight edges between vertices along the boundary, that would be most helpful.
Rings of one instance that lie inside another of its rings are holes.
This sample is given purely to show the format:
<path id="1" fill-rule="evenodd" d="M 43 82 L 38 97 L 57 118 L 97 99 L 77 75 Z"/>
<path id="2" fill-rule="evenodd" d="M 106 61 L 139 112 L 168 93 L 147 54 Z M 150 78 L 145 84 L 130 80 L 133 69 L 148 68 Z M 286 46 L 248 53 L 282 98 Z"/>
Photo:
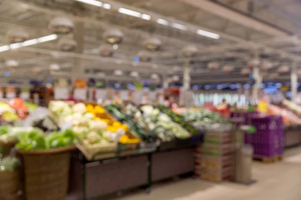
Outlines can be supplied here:
<path id="1" fill-rule="evenodd" d="M 229 19 L 245 27 L 255 29 L 259 32 L 264 32 L 273 36 L 287 35 L 289 32 L 281 30 L 280 28 L 273 27 L 270 24 L 264 23 L 253 17 L 247 16 L 246 14 L 240 13 L 229 7 L 226 7 L 216 1 L 211 0 L 181 0 L 182 2 L 188 3 L 195 7 L 211 12 L 222 18 Z"/>

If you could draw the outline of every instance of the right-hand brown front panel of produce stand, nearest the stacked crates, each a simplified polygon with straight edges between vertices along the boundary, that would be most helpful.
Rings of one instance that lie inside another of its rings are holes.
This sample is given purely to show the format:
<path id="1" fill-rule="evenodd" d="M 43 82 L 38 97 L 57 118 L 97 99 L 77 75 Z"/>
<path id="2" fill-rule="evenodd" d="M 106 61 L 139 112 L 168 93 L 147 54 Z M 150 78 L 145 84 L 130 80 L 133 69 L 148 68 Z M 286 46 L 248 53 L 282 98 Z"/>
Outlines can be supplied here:
<path id="1" fill-rule="evenodd" d="M 193 148 L 152 153 L 152 181 L 185 174 L 193 170 Z"/>

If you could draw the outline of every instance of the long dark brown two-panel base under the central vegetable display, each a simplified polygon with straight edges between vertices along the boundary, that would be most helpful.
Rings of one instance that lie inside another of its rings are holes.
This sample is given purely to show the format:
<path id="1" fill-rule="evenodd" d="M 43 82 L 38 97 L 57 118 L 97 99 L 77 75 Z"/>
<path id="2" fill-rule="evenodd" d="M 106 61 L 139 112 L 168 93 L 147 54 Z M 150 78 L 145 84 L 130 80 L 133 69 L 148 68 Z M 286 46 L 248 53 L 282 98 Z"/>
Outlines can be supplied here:
<path id="1" fill-rule="evenodd" d="M 154 181 L 194 171 L 193 145 L 127 151 L 99 153 L 102 158 L 92 160 L 74 151 L 67 199 L 94 199 L 140 187 L 149 192 Z"/>

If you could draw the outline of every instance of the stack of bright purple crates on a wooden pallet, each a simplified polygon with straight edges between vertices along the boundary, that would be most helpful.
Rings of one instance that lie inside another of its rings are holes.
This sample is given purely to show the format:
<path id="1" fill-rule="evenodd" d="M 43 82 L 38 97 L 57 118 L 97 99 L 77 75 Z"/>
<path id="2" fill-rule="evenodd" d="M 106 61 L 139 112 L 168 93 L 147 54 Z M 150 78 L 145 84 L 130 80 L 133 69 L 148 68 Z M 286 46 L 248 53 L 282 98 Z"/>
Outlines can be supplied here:
<path id="1" fill-rule="evenodd" d="M 269 158 L 282 155 L 284 151 L 283 122 L 281 116 L 253 116 L 251 124 L 256 132 L 246 138 L 252 144 L 254 157 Z"/>

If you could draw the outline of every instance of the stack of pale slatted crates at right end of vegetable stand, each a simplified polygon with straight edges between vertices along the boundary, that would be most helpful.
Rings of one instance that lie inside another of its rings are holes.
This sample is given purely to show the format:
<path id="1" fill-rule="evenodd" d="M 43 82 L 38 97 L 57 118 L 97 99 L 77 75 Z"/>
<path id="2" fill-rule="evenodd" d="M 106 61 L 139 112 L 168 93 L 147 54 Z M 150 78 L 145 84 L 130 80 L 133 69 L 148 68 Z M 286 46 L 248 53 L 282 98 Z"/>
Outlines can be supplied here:
<path id="1" fill-rule="evenodd" d="M 204 142 L 196 148 L 195 174 L 204 179 L 222 181 L 233 173 L 233 131 L 231 125 L 208 129 Z"/>

